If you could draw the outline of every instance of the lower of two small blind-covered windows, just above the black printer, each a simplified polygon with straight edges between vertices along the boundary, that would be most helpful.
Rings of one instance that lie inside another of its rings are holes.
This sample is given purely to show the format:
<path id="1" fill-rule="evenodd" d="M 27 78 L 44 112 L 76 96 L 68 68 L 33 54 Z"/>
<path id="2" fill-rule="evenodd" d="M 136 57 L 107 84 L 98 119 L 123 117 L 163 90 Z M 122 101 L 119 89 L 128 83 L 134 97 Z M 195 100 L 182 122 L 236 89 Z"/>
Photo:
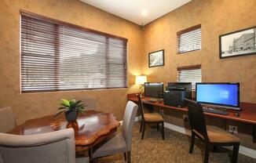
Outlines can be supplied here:
<path id="1" fill-rule="evenodd" d="M 196 90 L 196 83 L 202 82 L 201 65 L 177 67 L 177 82 L 192 82 L 192 90 Z"/>

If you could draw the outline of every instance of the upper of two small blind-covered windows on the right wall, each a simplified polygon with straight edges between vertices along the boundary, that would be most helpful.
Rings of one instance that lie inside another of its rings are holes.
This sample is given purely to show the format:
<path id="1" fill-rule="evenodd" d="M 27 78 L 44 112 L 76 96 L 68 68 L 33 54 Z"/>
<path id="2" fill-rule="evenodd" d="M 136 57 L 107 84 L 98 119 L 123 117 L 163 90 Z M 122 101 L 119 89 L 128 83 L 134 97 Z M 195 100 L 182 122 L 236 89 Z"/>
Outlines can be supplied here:
<path id="1" fill-rule="evenodd" d="M 177 32 L 177 53 L 201 49 L 201 25 Z"/>

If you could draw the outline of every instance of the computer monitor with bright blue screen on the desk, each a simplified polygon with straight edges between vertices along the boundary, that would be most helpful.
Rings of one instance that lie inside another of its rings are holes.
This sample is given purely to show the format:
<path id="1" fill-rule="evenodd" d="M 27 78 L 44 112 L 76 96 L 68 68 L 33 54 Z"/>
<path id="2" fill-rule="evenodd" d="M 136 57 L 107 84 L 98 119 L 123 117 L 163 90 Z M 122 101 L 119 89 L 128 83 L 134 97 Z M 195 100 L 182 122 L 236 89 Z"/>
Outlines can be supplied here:
<path id="1" fill-rule="evenodd" d="M 196 83 L 196 101 L 240 110 L 240 83 Z"/>

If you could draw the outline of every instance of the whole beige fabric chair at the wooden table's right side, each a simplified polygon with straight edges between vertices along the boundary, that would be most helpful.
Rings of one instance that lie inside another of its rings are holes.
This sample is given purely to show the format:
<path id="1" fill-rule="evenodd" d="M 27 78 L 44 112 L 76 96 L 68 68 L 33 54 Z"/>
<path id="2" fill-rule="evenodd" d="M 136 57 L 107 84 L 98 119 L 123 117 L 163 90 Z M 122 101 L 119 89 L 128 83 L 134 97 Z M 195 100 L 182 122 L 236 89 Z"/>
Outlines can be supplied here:
<path id="1" fill-rule="evenodd" d="M 132 147 L 133 125 L 137 114 L 137 104 L 132 101 L 128 101 L 126 104 L 126 110 L 123 117 L 122 133 L 117 134 L 112 139 L 108 140 L 97 150 L 93 151 L 93 162 L 96 162 L 96 158 L 123 153 L 127 162 L 130 162 L 130 151 Z"/>

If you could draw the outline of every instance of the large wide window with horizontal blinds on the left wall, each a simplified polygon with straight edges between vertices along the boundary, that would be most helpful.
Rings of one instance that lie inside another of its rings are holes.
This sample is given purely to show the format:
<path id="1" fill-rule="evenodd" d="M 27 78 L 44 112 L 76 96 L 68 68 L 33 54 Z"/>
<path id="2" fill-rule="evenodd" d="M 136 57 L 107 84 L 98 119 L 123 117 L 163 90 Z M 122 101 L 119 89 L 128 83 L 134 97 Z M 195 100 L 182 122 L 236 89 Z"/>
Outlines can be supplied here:
<path id="1" fill-rule="evenodd" d="M 127 87 L 126 38 L 20 14 L 21 92 Z"/>

